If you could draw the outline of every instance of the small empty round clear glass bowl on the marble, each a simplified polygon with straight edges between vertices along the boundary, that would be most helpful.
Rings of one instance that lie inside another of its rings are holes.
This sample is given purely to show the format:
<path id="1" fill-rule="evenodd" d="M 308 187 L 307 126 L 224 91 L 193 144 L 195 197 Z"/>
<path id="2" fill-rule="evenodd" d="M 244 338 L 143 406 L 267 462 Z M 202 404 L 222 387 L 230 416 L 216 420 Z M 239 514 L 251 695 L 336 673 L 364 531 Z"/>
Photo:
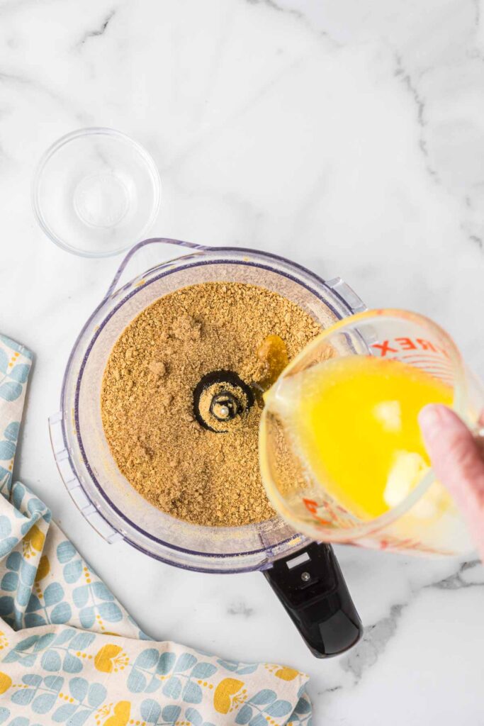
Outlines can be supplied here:
<path id="1" fill-rule="evenodd" d="M 114 129 L 62 136 L 33 177 L 33 211 L 67 252 L 107 257 L 146 236 L 160 206 L 160 176 L 140 144 Z"/>

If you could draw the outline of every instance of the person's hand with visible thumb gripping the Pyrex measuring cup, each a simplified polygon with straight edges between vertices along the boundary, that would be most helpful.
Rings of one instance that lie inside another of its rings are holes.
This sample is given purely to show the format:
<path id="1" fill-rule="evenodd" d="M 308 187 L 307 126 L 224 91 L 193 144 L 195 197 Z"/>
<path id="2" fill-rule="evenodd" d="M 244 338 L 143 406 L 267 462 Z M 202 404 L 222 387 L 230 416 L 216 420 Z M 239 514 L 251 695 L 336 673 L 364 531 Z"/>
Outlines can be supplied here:
<path id="1" fill-rule="evenodd" d="M 425 406 L 419 413 L 419 424 L 435 475 L 462 511 L 484 562 L 483 448 L 446 406 Z"/>

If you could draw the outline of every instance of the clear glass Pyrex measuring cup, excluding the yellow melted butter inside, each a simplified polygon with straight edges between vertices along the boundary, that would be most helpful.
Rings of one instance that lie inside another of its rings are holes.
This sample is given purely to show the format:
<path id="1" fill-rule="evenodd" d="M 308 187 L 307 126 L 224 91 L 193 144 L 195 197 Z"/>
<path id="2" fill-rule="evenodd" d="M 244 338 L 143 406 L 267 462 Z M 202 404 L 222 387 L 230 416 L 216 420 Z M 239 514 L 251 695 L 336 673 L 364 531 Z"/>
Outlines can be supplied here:
<path id="1" fill-rule="evenodd" d="M 477 431 L 484 407 L 483 387 L 467 370 L 450 335 L 419 314 L 390 309 L 361 312 L 324 330 L 266 394 L 260 460 L 272 505 L 297 531 L 319 541 L 422 554 L 469 552 L 472 542 L 464 521 L 431 469 L 398 505 L 363 520 L 336 502 L 329 494 L 329 483 L 321 474 L 316 478 L 296 453 L 287 421 L 276 406 L 284 380 L 316 365 L 324 366 L 327 360 L 362 355 L 400 361 L 445 383 L 451 388 L 452 407 Z M 351 456 L 350 440 L 341 455 Z"/>

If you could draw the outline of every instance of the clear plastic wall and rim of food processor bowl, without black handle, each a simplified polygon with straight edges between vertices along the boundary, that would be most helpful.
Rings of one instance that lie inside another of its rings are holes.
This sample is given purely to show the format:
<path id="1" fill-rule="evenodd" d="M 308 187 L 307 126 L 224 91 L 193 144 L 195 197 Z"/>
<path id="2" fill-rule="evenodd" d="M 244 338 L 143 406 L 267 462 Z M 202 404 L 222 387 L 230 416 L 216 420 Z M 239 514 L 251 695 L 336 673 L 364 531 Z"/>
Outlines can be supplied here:
<path id="1" fill-rule="evenodd" d="M 160 243 L 177 245 L 186 253 L 115 289 L 134 254 L 144 245 Z M 125 327 L 162 295 L 186 285 L 221 281 L 248 282 L 284 295 L 324 327 L 364 309 L 340 278 L 325 282 L 282 257 L 176 240 L 139 242 L 75 341 L 62 384 L 61 410 L 49 419 L 52 447 L 75 504 L 108 542 L 122 538 L 153 558 L 197 571 L 263 570 L 297 553 L 309 540 L 279 518 L 240 527 L 205 527 L 163 513 L 120 473 L 102 427 L 104 367 Z"/>

